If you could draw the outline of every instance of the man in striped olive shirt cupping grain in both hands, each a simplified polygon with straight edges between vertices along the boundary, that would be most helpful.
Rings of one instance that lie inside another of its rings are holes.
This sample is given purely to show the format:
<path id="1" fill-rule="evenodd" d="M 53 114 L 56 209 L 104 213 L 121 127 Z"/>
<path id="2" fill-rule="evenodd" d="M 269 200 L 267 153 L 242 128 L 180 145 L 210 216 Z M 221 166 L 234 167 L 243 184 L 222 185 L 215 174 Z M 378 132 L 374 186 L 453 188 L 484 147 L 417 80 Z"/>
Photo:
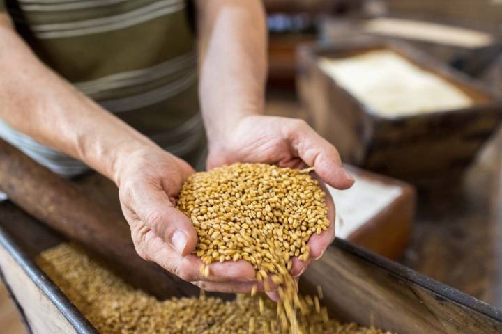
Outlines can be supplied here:
<path id="1" fill-rule="evenodd" d="M 173 205 L 194 173 L 174 154 L 195 164 L 204 148 L 186 3 L 0 0 L 0 11 L 1 136 L 56 172 L 80 173 L 73 157 L 113 180 L 144 259 L 210 291 L 248 292 L 254 271 L 244 261 L 211 264 L 201 277 L 197 234 Z M 305 122 L 262 115 L 261 1 L 199 0 L 195 11 L 207 167 L 314 166 L 331 186 L 351 186 L 333 145 Z M 331 226 L 311 238 L 313 258 L 333 240 Z M 307 262 L 296 259 L 292 273 Z"/>

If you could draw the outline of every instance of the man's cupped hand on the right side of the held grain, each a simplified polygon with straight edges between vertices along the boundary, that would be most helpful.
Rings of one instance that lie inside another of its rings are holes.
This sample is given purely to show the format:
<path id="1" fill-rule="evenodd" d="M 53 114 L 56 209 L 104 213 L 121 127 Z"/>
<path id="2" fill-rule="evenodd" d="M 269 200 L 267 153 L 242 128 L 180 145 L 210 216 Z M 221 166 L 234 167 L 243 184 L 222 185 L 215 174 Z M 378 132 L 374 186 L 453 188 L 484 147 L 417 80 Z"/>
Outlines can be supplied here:
<path id="1" fill-rule="evenodd" d="M 340 155 L 333 145 L 319 136 L 302 120 L 273 116 L 247 116 L 225 136 L 225 141 L 211 143 L 208 169 L 234 162 L 276 164 L 281 167 L 314 167 L 316 177 L 326 191 L 324 182 L 336 189 L 347 189 L 352 177 L 343 169 Z M 321 257 L 335 238 L 335 206 L 326 191 L 330 227 L 309 240 L 310 259 L 293 260 L 291 273 L 299 276 L 305 268 Z"/>

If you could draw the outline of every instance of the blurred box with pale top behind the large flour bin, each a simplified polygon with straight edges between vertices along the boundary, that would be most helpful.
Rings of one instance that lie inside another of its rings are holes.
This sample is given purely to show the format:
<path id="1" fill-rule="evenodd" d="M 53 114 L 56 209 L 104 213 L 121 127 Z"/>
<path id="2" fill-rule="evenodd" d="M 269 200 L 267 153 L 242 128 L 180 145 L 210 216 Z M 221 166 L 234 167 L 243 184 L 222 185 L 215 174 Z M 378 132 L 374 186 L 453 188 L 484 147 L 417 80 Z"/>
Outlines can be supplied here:
<path id="1" fill-rule="evenodd" d="M 502 51 L 499 36 L 479 29 L 441 24 L 441 21 L 374 17 L 360 19 L 326 18 L 320 26 L 324 42 L 367 35 L 406 42 L 439 61 L 476 76 Z"/>

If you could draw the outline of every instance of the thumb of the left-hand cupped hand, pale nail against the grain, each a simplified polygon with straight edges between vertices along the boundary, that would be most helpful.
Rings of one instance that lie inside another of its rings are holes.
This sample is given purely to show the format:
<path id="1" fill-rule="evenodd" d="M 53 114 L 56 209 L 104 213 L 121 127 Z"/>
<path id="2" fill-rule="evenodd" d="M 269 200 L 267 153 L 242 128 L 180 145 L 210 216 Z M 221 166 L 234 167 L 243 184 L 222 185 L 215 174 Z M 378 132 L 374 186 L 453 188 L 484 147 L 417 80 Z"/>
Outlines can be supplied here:
<path id="1" fill-rule="evenodd" d="M 187 255 L 197 245 L 197 232 L 190 218 L 178 211 L 160 185 L 137 182 L 130 185 L 130 209 L 155 235 L 166 241 L 180 255 Z"/>

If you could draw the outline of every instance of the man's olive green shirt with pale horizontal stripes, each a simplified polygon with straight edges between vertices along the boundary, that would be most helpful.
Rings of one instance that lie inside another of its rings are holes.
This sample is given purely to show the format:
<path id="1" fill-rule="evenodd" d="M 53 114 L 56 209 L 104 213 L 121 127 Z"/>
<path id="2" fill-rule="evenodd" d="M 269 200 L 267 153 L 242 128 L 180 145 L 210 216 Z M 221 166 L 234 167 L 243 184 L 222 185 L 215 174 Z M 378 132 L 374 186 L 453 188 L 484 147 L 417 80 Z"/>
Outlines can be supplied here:
<path id="1" fill-rule="evenodd" d="M 169 152 L 196 163 L 204 129 L 185 1 L 0 0 L 1 11 L 48 67 Z M 86 169 L 1 120 L 0 136 L 56 173 Z"/>

